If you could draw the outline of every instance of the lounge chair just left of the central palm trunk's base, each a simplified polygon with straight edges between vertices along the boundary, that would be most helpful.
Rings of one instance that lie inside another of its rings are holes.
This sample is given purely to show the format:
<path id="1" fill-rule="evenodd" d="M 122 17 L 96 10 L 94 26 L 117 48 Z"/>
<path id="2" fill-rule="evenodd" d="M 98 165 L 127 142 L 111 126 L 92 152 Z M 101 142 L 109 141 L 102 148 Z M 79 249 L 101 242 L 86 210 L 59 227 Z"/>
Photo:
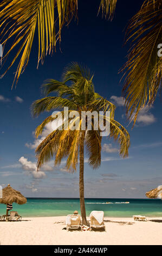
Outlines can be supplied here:
<path id="1" fill-rule="evenodd" d="M 69 231 L 69 229 L 79 229 L 79 228 L 82 231 L 80 215 L 79 214 L 67 215 L 66 225 L 67 225 L 67 231 Z"/>

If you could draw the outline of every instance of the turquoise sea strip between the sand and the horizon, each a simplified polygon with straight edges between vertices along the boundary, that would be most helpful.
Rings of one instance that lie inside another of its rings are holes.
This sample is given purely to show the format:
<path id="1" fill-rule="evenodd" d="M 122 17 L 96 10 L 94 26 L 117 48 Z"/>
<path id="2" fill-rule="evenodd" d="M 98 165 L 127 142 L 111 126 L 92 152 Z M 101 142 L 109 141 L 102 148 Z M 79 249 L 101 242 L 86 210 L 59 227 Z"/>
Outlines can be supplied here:
<path id="1" fill-rule="evenodd" d="M 162 217 L 160 199 L 88 198 L 85 199 L 85 203 L 87 216 L 93 210 L 102 210 L 108 217 Z M 0 215 L 5 214 L 5 209 L 6 205 L 0 204 Z M 27 204 L 14 203 L 13 210 L 18 211 L 23 217 L 64 216 L 72 214 L 74 210 L 80 212 L 80 202 L 77 198 L 27 198 Z"/>

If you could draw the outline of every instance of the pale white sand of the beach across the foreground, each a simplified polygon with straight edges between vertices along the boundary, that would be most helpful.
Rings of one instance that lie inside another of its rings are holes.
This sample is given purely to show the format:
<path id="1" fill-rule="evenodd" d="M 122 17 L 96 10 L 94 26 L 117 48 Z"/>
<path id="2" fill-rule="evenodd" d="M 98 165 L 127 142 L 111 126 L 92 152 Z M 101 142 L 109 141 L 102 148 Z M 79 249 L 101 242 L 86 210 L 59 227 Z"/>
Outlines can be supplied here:
<path id="1" fill-rule="evenodd" d="M 162 245 L 162 217 L 148 222 L 105 217 L 105 231 L 67 231 L 65 216 L 0 222 L 1 245 Z"/>

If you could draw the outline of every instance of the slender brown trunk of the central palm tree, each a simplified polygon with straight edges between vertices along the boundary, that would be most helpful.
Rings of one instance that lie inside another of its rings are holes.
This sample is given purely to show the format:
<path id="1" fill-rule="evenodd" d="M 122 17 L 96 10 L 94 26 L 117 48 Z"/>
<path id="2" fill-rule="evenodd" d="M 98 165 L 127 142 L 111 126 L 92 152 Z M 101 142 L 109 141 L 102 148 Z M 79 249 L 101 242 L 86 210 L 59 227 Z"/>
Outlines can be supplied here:
<path id="1" fill-rule="evenodd" d="M 86 208 L 85 208 L 85 191 L 84 191 L 84 139 L 85 132 L 81 135 L 80 141 L 80 173 L 79 173 L 79 191 L 80 191 L 80 210 L 82 224 L 87 225 Z"/>

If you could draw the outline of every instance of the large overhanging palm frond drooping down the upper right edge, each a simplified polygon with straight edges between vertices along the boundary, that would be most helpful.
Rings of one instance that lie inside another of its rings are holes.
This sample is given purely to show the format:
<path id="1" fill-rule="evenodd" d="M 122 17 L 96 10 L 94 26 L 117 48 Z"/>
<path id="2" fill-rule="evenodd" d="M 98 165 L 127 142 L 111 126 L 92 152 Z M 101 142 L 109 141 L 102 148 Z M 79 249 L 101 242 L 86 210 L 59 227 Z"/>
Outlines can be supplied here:
<path id="1" fill-rule="evenodd" d="M 162 2 L 146 0 L 127 28 L 132 40 L 125 72 L 124 92 L 129 118 L 135 111 L 134 123 L 141 108 L 152 104 L 161 87 L 162 58 L 158 45 L 162 41 Z"/>

